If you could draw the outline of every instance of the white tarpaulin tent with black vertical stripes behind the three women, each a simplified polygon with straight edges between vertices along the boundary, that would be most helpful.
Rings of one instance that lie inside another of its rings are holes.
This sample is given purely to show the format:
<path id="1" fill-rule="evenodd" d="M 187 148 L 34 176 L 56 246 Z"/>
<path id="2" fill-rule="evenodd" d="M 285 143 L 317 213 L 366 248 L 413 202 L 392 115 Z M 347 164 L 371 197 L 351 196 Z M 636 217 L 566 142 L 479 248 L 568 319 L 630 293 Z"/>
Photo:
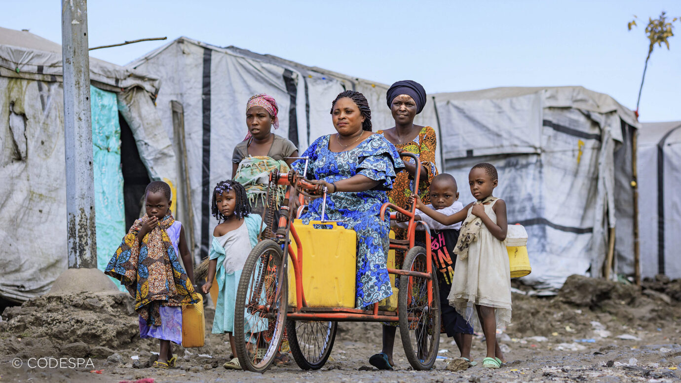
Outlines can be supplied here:
<path id="1" fill-rule="evenodd" d="M 386 85 L 240 48 L 180 37 L 127 67 L 161 78 L 157 98 L 161 121 L 176 148 L 186 148 L 187 166 L 180 170 L 184 173 L 180 179 L 189 180 L 185 200 L 191 200 L 192 212 L 180 219 L 193 226 L 189 235 L 199 259 L 208 256 L 210 235 L 217 224 L 210 216 L 212 188 L 232 177 L 232 151 L 247 133 L 245 107 L 251 95 L 268 93 L 276 99 L 280 127 L 274 132 L 294 142 L 300 153 L 317 137 L 335 132 L 331 103 L 346 89 L 367 97 L 374 130 L 394 125 L 385 104 Z M 436 127 L 432 110 L 430 105 L 416 122 Z M 176 153 L 185 156 L 181 150 Z M 191 222 L 189 217 L 193 217 Z"/>

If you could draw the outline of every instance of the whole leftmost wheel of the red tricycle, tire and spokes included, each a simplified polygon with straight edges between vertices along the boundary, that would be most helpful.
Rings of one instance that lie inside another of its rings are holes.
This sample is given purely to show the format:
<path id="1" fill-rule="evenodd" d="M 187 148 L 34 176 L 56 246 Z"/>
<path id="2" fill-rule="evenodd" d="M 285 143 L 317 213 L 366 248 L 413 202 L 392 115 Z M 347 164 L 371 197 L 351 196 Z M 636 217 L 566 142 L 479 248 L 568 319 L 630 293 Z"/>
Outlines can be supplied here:
<path id="1" fill-rule="evenodd" d="M 241 271 L 234 341 L 243 369 L 265 372 L 279 350 L 288 309 L 287 277 L 283 271 L 281 246 L 271 239 L 253 247 Z"/>

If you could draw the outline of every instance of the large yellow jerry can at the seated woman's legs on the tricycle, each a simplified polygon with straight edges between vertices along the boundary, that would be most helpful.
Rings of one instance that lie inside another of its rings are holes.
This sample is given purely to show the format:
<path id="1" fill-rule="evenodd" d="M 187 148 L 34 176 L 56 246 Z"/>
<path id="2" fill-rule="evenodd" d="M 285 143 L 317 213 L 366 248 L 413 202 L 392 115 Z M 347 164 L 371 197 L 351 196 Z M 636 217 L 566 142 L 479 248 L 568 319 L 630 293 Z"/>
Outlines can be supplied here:
<path id="1" fill-rule="evenodd" d="M 308 307 L 355 307 L 357 232 L 336 222 L 293 222 L 302 243 L 302 287 Z M 330 228 L 328 228 L 330 227 Z M 291 235 L 291 247 L 298 244 Z M 300 257 L 300 254 L 298 254 Z M 296 306 L 296 277 L 289 258 L 289 305 Z"/>

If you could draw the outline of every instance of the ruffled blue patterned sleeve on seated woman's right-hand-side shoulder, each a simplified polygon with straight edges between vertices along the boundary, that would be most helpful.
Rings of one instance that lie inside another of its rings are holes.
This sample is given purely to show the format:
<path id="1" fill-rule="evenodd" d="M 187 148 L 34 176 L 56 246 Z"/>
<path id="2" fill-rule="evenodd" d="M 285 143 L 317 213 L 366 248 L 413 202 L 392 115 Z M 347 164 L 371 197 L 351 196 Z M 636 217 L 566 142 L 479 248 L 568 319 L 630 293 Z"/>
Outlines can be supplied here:
<path id="1" fill-rule="evenodd" d="M 374 134 L 361 145 L 356 174 L 362 174 L 374 181 L 382 181 L 377 189 L 392 189 L 397 173 L 405 168 L 395 146 L 381 134 Z"/>

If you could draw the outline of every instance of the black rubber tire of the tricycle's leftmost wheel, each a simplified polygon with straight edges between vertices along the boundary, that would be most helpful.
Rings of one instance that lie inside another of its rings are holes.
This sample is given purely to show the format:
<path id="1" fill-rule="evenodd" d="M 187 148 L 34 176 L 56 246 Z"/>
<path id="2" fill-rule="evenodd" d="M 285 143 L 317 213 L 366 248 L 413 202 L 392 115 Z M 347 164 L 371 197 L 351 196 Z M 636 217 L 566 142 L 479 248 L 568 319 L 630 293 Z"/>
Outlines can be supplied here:
<path id="1" fill-rule="evenodd" d="M 257 295 L 262 294 L 262 291 L 268 286 L 265 284 L 265 275 L 268 269 L 264 266 L 264 262 L 272 267 L 276 267 L 276 272 L 272 271 L 272 275 L 276 276 L 279 270 L 285 269 L 283 254 L 281 251 L 281 245 L 272 241 L 271 239 L 266 239 L 261 241 L 251 250 L 249 258 L 244 264 L 244 269 L 241 272 L 241 278 L 239 279 L 239 287 L 236 292 L 236 304 L 234 312 L 234 341 L 236 342 L 236 356 L 239 358 L 239 363 L 244 370 L 264 373 L 272 365 L 274 361 L 274 356 L 279 352 L 279 347 L 281 346 L 281 341 L 283 339 L 284 328 L 286 326 L 286 312 L 288 310 L 288 291 L 287 291 L 287 275 L 283 274 L 283 279 L 277 281 L 274 277 L 270 288 L 266 290 L 265 302 L 259 302 L 258 305 L 264 305 L 273 307 L 271 313 L 273 318 L 265 319 L 262 316 L 257 316 L 262 322 L 259 324 L 268 325 L 269 322 L 274 320 L 274 331 L 272 333 L 271 339 L 267 340 L 266 337 L 269 333 L 269 326 L 267 330 L 260 331 L 258 333 L 249 333 L 249 338 L 255 342 L 255 354 L 247 350 L 246 343 L 253 345 L 253 342 L 249 342 L 246 339 L 247 330 L 245 326 L 248 319 L 247 308 L 249 307 L 249 301 L 252 301 L 249 294 L 249 290 L 259 291 Z M 251 281 L 254 281 L 253 289 L 249 289 Z M 280 294 L 278 301 L 274 302 L 276 294 L 276 288 L 279 287 Z M 248 300 L 248 301 L 247 301 Z M 241 307 L 242 309 L 238 309 Z M 253 314 L 251 314 L 253 315 Z M 253 318 L 256 318 L 253 315 Z M 250 326 L 249 326 L 250 328 Z M 257 335 L 256 335 L 257 334 Z M 253 339 L 255 338 L 255 339 Z M 263 347 L 266 346 L 266 347 Z M 257 350 L 265 350 L 262 358 L 257 356 Z"/>

